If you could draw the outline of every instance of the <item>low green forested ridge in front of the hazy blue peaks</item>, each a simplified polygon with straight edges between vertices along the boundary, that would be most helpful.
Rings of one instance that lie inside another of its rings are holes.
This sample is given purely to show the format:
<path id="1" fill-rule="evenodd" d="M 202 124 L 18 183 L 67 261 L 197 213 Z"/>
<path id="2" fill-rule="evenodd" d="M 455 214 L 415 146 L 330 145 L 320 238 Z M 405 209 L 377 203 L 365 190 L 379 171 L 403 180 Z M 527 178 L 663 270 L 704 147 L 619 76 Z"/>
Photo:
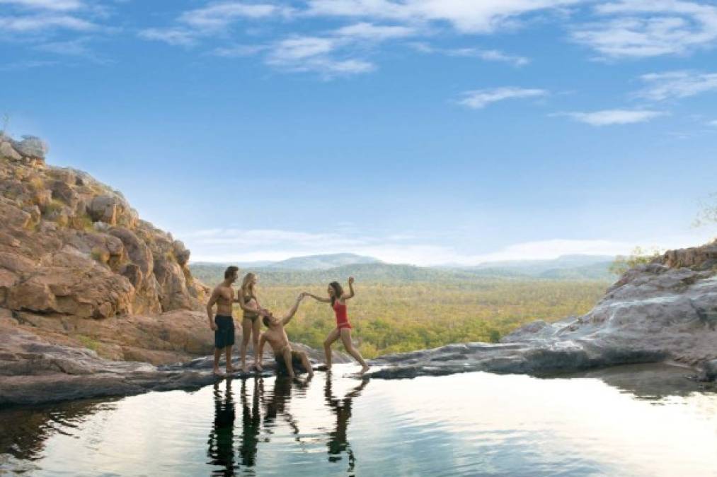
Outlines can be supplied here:
<path id="1" fill-rule="evenodd" d="M 439 269 L 397 264 L 351 264 L 323 270 L 288 270 L 273 267 L 244 268 L 244 274 L 253 271 L 260 276 L 262 284 L 317 284 L 329 281 L 346 281 L 348 276 L 357 280 L 374 283 L 460 283 L 477 282 L 487 279 L 548 279 L 548 280 L 596 280 L 613 281 L 610 262 L 582 265 L 572 268 L 541 269 L 526 273 L 515 268 L 486 269 Z M 228 264 L 191 264 L 191 272 L 205 284 L 213 285 L 222 281 Z"/>

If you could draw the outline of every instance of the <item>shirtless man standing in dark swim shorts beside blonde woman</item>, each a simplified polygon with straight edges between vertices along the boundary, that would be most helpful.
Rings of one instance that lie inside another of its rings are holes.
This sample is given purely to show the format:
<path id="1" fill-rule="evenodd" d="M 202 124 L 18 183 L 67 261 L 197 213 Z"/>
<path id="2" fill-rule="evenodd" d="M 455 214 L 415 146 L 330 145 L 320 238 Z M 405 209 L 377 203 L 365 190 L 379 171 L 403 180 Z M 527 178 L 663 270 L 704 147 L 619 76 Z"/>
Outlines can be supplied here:
<path id="1" fill-rule="evenodd" d="M 219 357 L 222 350 L 227 359 L 227 372 L 233 372 L 232 347 L 234 346 L 234 319 L 232 318 L 232 303 L 234 303 L 234 289 L 232 284 L 237 281 L 239 268 L 229 266 L 224 271 L 224 281 L 218 284 L 209 302 L 206 304 L 206 316 L 209 318 L 209 327 L 214 330 L 214 374 L 222 375 L 219 371 Z M 212 308 L 217 304 L 217 316 Z"/>

